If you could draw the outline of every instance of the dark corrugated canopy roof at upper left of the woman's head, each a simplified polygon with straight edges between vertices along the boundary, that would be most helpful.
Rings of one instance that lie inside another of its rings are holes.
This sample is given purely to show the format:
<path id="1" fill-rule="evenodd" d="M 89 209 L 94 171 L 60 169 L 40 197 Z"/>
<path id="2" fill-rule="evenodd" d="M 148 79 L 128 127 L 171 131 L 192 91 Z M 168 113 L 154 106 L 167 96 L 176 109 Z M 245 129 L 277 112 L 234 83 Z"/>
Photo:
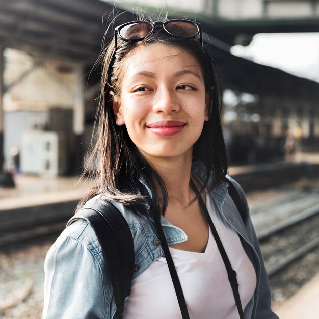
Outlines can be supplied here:
<path id="1" fill-rule="evenodd" d="M 0 0 L 0 46 L 90 65 L 112 11 L 98 0 Z"/>

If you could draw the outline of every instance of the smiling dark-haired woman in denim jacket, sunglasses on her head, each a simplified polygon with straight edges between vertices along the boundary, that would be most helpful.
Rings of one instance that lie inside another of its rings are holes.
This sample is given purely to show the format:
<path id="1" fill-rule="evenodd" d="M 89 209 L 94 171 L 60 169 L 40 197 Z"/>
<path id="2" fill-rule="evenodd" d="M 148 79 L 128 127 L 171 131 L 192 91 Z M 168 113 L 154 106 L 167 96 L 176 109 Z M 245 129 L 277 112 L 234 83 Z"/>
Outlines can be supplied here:
<path id="1" fill-rule="evenodd" d="M 137 266 L 123 318 L 182 317 L 170 256 L 190 318 L 277 318 L 245 196 L 236 184 L 241 217 L 228 195 L 218 76 L 200 25 L 125 23 L 102 62 L 96 186 L 84 202 L 111 200 L 132 232 Z M 236 272 L 240 305 L 221 249 Z M 110 278 L 86 221 L 64 230 L 47 254 L 45 273 L 43 318 L 114 317 Z"/>

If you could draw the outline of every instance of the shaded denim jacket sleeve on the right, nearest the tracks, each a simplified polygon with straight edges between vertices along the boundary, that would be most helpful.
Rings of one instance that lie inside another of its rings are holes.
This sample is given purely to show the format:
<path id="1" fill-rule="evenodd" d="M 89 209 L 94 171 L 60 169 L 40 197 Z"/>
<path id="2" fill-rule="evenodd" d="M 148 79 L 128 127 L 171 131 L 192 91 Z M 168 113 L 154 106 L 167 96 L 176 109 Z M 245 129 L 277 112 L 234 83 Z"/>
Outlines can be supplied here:
<path id="1" fill-rule="evenodd" d="M 268 275 L 267 275 L 262 254 L 260 251 L 257 235 L 250 218 L 249 207 L 248 207 L 245 193 L 243 189 L 241 188 L 241 186 L 235 180 L 231 179 L 231 181 L 240 195 L 241 203 L 243 205 L 244 214 L 245 214 L 243 216 L 244 224 L 245 224 L 247 233 L 249 235 L 251 244 L 260 260 L 260 283 L 259 283 L 259 287 L 257 291 L 258 297 L 257 297 L 257 304 L 256 304 L 256 315 L 254 318 L 255 319 L 278 319 L 278 316 L 271 309 L 271 291 L 270 291 Z"/>

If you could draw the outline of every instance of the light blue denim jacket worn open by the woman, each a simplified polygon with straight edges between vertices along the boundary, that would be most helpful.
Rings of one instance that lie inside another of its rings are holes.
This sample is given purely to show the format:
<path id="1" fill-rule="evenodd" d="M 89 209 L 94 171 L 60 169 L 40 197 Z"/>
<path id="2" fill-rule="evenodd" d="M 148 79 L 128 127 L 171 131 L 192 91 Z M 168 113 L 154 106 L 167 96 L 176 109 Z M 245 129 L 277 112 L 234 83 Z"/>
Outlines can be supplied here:
<path id="1" fill-rule="evenodd" d="M 203 165 L 193 167 L 193 174 L 204 180 L 206 173 Z M 228 195 L 226 184 L 221 184 L 210 195 L 222 217 L 240 235 L 242 245 L 256 271 L 256 289 L 244 309 L 245 319 L 278 319 L 271 310 L 268 277 L 249 216 L 247 201 L 240 185 L 236 182 L 235 185 L 245 208 L 243 218 Z M 133 214 L 127 207 L 113 203 L 125 217 L 133 236 L 134 280 L 155 259 L 162 256 L 163 250 L 157 238 L 154 222 L 149 217 Z M 161 224 L 169 245 L 187 240 L 184 231 L 164 217 Z M 43 319 L 113 318 L 116 304 L 112 285 L 105 271 L 101 247 L 86 221 L 76 220 L 62 232 L 48 251 L 44 268 Z"/>

